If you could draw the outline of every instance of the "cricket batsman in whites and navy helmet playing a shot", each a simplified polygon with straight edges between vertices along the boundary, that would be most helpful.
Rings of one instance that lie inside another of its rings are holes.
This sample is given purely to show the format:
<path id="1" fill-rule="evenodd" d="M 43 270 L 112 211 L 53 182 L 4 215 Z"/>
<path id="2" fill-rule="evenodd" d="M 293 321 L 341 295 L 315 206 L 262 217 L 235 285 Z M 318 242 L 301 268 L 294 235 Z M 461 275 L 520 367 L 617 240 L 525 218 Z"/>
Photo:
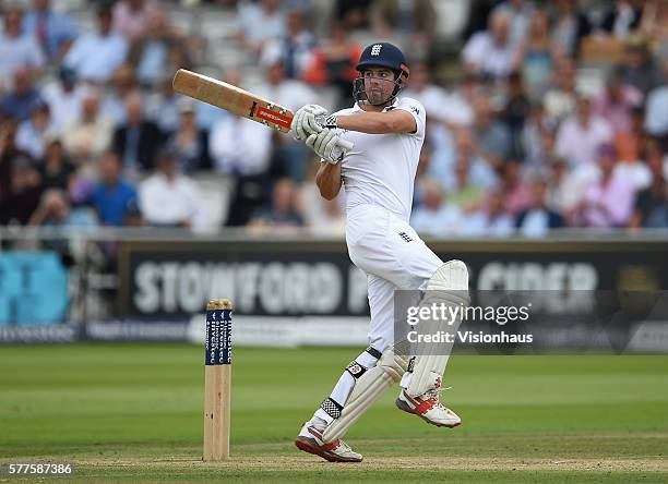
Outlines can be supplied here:
<path id="1" fill-rule="evenodd" d="M 299 432 L 301 450 L 332 462 L 360 462 L 341 437 L 392 385 L 399 383 L 399 410 L 430 424 L 455 427 L 461 419 L 440 402 L 448 354 L 395 352 L 394 291 L 427 290 L 425 299 L 468 304 L 468 271 L 461 261 L 443 263 L 408 225 L 418 159 L 425 142 L 425 108 L 397 95 L 409 70 L 387 43 L 367 47 L 357 64 L 355 105 L 333 114 L 317 105 L 299 109 L 293 135 L 320 157 L 315 182 L 326 199 L 346 191 L 346 243 L 353 263 L 368 277 L 369 348 L 348 366 Z M 341 141 L 354 147 L 341 153 Z M 438 351 L 437 351 L 438 353 Z"/>

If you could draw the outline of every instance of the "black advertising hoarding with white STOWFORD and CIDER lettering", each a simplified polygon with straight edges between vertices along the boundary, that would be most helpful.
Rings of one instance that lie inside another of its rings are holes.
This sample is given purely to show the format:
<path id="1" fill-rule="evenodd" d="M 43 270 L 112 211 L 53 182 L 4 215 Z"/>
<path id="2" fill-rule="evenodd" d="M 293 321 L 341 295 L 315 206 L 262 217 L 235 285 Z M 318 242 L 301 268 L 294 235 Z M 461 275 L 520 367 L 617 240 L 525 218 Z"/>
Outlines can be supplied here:
<path id="1" fill-rule="evenodd" d="M 666 241 L 428 242 L 461 258 L 476 290 L 653 291 L 668 288 Z M 366 276 L 343 241 L 126 242 L 119 308 L 142 318 L 184 317 L 229 298 L 237 314 L 362 316 Z M 558 297 L 557 292 L 553 292 Z M 568 294 L 564 295 L 568 298 Z M 561 303 L 569 304 L 568 299 Z"/>

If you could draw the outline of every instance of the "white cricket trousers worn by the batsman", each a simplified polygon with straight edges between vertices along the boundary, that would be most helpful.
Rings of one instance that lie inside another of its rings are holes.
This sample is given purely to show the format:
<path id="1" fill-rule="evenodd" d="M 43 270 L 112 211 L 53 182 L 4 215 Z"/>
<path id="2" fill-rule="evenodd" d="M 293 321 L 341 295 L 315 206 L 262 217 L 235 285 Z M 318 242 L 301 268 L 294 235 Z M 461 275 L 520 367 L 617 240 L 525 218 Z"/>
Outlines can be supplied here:
<path id="1" fill-rule="evenodd" d="M 394 343 L 394 291 L 425 289 L 443 262 L 407 221 L 378 205 L 348 209 L 346 243 L 350 261 L 367 274 L 369 344 L 383 352 Z"/>

